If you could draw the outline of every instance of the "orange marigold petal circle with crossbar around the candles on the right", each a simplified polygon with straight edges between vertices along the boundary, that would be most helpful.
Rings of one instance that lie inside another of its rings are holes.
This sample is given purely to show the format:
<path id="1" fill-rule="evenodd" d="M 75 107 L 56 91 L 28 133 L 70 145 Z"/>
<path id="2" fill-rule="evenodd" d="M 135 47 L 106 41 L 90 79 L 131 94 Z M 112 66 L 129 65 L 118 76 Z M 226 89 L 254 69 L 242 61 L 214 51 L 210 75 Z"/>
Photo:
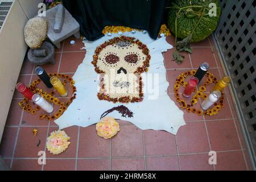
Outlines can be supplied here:
<path id="1" fill-rule="evenodd" d="M 217 102 L 214 103 L 214 106 L 213 106 L 212 109 L 208 109 L 208 110 L 203 112 L 201 109 L 196 109 L 195 107 L 193 107 L 199 101 L 199 98 L 202 98 L 203 100 L 207 99 L 207 95 L 204 94 L 204 92 L 206 90 L 206 87 L 209 84 L 217 83 L 217 78 L 214 77 L 214 75 L 212 73 L 209 73 L 209 72 L 206 73 L 205 76 L 207 77 L 207 80 L 204 82 L 204 84 L 202 86 L 199 87 L 199 90 L 195 89 L 196 94 L 192 97 L 192 100 L 190 101 L 190 104 L 187 104 L 184 100 L 180 99 L 180 95 L 179 95 L 180 85 L 182 85 L 185 88 L 188 84 L 188 82 L 185 81 L 185 78 L 189 75 L 194 76 L 195 73 L 196 73 L 195 70 L 184 72 L 184 73 L 181 73 L 181 75 L 179 75 L 176 78 L 176 81 L 175 81 L 175 84 L 174 84 L 174 93 L 175 93 L 176 101 L 179 102 L 180 108 L 181 109 L 186 109 L 188 113 L 192 112 L 192 113 L 196 113 L 197 115 L 202 115 L 202 114 L 204 114 L 204 115 L 216 115 L 216 114 L 218 114 L 218 111 L 220 111 L 221 108 L 224 106 L 223 105 L 224 94 L 222 92 L 221 92 L 221 98 L 220 98 L 219 103 L 217 103 Z"/>

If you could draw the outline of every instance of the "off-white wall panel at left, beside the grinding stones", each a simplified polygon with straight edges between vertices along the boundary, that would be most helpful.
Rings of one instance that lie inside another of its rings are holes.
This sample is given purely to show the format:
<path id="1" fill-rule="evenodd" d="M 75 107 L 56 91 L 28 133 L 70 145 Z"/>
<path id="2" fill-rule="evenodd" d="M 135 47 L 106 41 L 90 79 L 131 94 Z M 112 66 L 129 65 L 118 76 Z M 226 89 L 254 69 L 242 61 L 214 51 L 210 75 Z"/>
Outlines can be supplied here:
<path id="1" fill-rule="evenodd" d="M 20 68 L 27 51 L 23 29 L 43 0 L 15 0 L 0 31 L 0 141 Z M 24 12 L 25 11 L 25 12 Z"/>

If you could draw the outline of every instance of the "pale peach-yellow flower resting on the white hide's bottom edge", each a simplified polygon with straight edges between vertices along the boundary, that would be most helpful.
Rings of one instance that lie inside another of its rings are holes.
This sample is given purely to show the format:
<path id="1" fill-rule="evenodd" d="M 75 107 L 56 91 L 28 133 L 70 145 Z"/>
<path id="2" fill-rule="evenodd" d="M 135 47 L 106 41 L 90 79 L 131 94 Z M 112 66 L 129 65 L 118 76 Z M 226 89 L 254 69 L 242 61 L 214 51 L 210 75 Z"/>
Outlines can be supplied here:
<path id="1" fill-rule="evenodd" d="M 112 138 L 120 131 L 118 122 L 112 117 L 102 118 L 100 122 L 96 124 L 97 134 L 105 139 Z"/>

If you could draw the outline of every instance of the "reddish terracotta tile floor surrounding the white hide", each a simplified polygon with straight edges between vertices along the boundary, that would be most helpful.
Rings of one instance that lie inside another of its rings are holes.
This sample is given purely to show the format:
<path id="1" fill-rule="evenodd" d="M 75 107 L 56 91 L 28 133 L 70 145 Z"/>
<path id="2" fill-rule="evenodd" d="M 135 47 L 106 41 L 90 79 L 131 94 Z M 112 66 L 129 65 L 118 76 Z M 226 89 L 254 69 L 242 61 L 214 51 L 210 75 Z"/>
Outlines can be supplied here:
<path id="1" fill-rule="evenodd" d="M 61 43 L 60 49 L 56 49 L 54 65 L 43 66 L 48 73 L 68 73 L 72 76 L 76 71 L 86 51 L 80 49 L 83 46 L 81 40 L 76 40 L 76 45 L 71 46 L 71 39 L 68 38 Z M 180 65 L 171 61 L 174 49 L 164 53 L 172 100 L 176 76 L 198 68 L 204 60 L 210 63 L 210 72 L 217 78 L 224 75 L 210 39 L 193 43 L 193 53 L 183 53 L 185 60 Z M 174 44 L 171 36 L 167 41 Z M 35 66 L 25 59 L 19 81 L 29 84 L 37 79 L 34 69 Z M 43 84 L 40 86 L 46 89 Z M 57 125 L 39 121 L 39 114 L 31 115 L 20 110 L 17 103 L 22 96 L 15 92 L 0 155 L 13 170 L 249 170 L 251 164 L 228 89 L 225 89 L 225 94 L 225 107 L 214 117 L 199 117 L 184 112 L 187 125 L 181 127 L 176 136 L 165 131 L 142 131 L 129 122 L 119 121 L 121 131 L 113 139 L 105 140 L 97 136 L 95 126 L 73 126 L 65 129 L 71 137 L 69 148 L 60 155 L 52 155 L 46 150 L 45 141 Z M 36 137 L 32 137 L 34 128 L 38 129 Z M 38 164 L 40 150 L 46 151 L 44 166 Z M 208 152 L 211 150 L 217 152 L 217 164 L 214 166 L 208 163 Z"/>

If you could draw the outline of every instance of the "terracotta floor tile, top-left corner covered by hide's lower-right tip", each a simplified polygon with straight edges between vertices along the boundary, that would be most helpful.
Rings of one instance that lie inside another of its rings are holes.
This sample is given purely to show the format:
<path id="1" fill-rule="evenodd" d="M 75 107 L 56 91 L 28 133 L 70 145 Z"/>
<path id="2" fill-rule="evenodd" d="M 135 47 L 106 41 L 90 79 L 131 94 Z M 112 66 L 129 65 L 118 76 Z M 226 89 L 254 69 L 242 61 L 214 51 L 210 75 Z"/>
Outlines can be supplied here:
<path id="1" fill-rule="evenodd" d="M 179 154 L 209 152 L 204 122 L 189 122 L 176 135 Z"/>

